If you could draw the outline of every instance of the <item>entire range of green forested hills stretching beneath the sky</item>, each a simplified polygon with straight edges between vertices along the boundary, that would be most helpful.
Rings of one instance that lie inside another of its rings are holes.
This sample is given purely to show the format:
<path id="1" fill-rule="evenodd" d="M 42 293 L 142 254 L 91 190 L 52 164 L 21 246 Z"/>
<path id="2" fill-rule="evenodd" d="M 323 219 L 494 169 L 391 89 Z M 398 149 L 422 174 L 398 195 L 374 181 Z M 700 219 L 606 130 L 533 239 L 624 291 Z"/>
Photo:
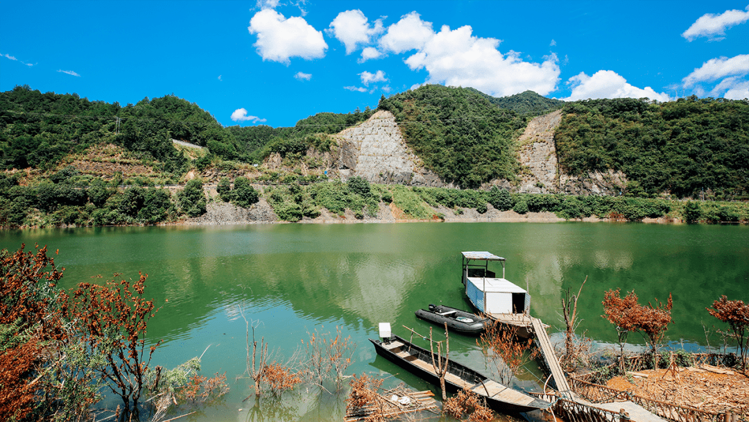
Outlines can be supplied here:
<path id="1" fill-rule="evenodd" d="M 583 100 L 564 103 L 526 91 L 495 98 L 473 88 L 424 85 L 380 98 L 405 142 L 428 169 L 448 183 L 479 187 L 517 180 L 517 139 L 533 115 L 562 106 L 554 141 L 568 175 L 623 172 L 634 196 L 749 199 L 749 103 L 688 97 Z M 338 133 L 375 110 L 322 112 L 294 127 L 222 127 L 197 104 L 176 97 L 121 106 L 77 94 L 17 86 L 0 93 L 0 169 L 59 169 L 70 154 L 114 144 L 130 157 L 155 163 L 162 178 L 178 181 L 189 169 L 230 161 L 261 163 L 270 154 L 302 157 L 309 148 L 330 151 Z M 207 146 L 189 158 L 172 139 Z"/>

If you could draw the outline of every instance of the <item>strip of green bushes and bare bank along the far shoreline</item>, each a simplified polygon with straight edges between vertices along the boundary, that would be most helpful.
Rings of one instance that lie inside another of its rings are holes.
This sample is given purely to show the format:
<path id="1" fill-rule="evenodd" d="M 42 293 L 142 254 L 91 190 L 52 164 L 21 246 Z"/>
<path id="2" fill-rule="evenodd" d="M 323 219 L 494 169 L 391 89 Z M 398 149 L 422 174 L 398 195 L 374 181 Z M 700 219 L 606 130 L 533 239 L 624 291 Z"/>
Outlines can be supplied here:
<path id="1" fill-rule="evenodd" d="M 684 201 L 633 196 L 573 196 L 509 193 L 348 181 L 314 184 L 252 184 L 222 178 L 204 185 L 121 186 L 100 178 L 88 186 L 66 167 L 58 181 L 22 186 L 0 173 L 0 227 L 3 229 L 222 225 L 243 223 L 402 223 L 402 222 L 642 222 L 747 224 L 746 202 Z M 112 185 L 112 184 L 116 185 Z"/>

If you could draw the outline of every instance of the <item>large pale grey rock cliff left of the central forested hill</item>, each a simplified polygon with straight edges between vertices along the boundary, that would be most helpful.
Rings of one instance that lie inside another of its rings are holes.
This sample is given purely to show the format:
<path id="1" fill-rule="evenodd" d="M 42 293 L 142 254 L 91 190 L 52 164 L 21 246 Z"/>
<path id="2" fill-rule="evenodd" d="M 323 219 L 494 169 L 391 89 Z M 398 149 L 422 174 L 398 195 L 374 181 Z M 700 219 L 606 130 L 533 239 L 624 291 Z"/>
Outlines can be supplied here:
<path id="1" fill-rule="evenodd" d="M 339 138 L 336 166 L 342 178 L 361 176 L 374 183 L 446 186 L 410 151 L 390 112 L 380 110 L 336 137 Z"/>

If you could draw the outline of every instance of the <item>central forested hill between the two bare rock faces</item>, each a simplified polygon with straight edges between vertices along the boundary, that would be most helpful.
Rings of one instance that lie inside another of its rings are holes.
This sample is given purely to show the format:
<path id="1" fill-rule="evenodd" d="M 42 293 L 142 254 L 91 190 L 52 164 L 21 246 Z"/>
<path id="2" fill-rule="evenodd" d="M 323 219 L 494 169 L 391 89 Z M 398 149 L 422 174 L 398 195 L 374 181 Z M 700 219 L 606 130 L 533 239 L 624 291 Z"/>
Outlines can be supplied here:
<path id="1" fill-rule="evenodd" d="M 395 115 L 405 142 L 445 181 L 473 188 L 520 171 L 515 139 L 527 118 L 473 88 L 423 85 L 381 98 L 379 108 Z"/>

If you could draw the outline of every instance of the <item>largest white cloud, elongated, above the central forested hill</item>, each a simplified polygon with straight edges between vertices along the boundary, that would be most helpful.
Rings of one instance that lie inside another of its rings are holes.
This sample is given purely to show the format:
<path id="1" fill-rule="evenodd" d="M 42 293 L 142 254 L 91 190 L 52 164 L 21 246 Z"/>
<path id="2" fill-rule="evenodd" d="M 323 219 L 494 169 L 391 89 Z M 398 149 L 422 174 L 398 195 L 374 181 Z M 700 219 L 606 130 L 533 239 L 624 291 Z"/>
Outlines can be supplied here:
<path id="1" fill-rule="evenodd" d="M 532 90 L 546 95 L 557 88 L 560 67 L 557 55 L 530 63 L 520 53 L 502 54 L 495 38 L 474 37 L 466 25 L 450 30 L 443 26 L 416 53 L 405 60 L 411 70 L 425 68 L 427 83 L 470 86 L 494 96 Z"/>

